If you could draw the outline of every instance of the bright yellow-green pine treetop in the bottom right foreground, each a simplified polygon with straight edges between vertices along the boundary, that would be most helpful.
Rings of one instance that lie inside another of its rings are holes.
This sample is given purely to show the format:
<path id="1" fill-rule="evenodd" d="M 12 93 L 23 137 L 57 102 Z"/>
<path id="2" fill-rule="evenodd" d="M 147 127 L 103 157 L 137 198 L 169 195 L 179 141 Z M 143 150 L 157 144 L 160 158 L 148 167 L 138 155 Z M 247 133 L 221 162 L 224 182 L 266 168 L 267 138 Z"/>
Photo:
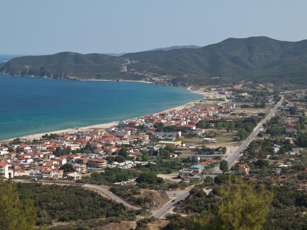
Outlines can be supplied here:
<path id="1" fill-rule="evenodd" d="M 273 194 L 264 186 L 255 189 L 243 182 L 223 186 L 219 190 L 220 200 L 216 207 L 194 219 L 196 230 L 260 230 L 270 210 Z"/>

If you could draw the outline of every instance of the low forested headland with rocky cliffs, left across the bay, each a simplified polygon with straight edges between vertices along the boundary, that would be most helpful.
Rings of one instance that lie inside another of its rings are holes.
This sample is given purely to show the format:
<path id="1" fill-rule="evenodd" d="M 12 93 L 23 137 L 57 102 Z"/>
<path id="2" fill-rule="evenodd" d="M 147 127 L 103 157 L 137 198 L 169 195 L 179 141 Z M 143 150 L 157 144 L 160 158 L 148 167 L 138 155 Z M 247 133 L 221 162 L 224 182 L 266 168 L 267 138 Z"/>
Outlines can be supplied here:
<path id="1" fill-rule="evenodd" d="M 13 58 L 0 65 L 0 72 L 4 75 L 53 79 L 112 79 L 120 75 L 125 62 L 119 57 L 97 53 L 61 52 Z"/>

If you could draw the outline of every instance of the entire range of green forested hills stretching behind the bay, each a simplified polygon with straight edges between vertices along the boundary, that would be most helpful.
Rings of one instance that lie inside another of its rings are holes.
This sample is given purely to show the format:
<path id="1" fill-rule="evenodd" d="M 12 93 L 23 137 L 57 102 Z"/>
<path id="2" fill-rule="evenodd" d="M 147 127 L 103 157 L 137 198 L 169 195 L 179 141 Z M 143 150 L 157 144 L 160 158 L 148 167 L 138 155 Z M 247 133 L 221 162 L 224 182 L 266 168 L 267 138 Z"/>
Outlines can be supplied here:
<path id="1" fill-rule="evenodd" d="M 293 82 L 307 84 L 307 40 L 228 38 L 202 48 L 126 53 L 62 52 L 17 57 L 0 65 L 4 75 L 56 79 L 148 80 L 170 85 Z"/>

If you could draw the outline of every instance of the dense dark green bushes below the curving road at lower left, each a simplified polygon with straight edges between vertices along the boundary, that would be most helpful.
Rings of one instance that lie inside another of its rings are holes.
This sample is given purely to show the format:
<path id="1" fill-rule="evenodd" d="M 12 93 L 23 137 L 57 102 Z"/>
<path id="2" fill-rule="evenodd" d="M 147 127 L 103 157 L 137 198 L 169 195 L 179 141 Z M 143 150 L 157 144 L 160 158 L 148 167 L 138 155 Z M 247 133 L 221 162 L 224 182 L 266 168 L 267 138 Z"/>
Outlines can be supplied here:
<path id="1" fill-rule="evenodd" d="M 109 212 L 106 207 L 110 210 L 110 217 L 116 217 L 118 220 L 128 218 L 123 204 L 80 186 L 18 183 L 17 190 L 21 200 L 26 198 L 34 200 L 39 223 L 51 224 L 51 219 L 67 222 L 86 217 L 88 219 L 108 217 Z"/>

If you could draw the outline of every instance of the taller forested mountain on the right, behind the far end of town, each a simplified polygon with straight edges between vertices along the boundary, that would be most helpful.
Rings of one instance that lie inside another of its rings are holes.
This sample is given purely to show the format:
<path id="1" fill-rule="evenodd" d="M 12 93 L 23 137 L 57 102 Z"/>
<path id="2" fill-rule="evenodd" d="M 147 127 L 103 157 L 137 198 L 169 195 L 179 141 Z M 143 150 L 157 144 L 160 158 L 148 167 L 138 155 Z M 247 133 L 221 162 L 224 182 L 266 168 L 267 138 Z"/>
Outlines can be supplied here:
<path id="1" fill-rule="evenodd" d="M 138 61 L 129 65 L 128 70 L 173 76 L 170 80 L 173 84 L 280 82 L 280 79 L 303 82 L 306 51 L 307 40 L 287 42 L 250 37 L 228 38 L 199 49 L 138 52 L 122 57 Z"/>

